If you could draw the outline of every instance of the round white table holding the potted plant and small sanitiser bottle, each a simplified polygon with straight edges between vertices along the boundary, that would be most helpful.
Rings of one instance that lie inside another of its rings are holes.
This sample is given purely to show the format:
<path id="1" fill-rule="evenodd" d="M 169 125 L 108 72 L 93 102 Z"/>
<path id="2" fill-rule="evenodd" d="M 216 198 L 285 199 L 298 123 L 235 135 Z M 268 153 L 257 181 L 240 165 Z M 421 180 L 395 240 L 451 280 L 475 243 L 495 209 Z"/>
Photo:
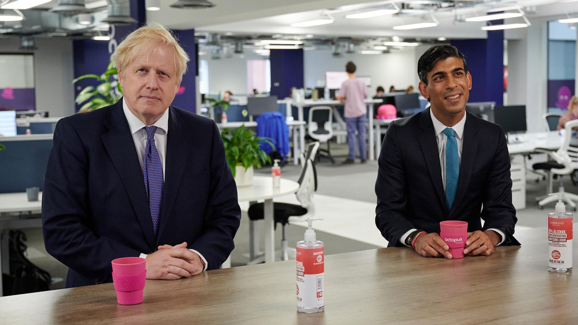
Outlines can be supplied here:
<path id="1" fill-rule="evenodd" d="M 273 198 L 295 193 L 299 183 L 281 178 L 280 187 L 273 189 L 273 179 L 269 176 L 253 176 L 253 186 L 237 187 L 239 201 L 256 202 L 265 200 L 265 263 L 275 262 L 275 219 L 273 218 Z M 254 234 L 254 229 L 250 231 Z M 253 248 L 251 248 L 253 249 Z"/>

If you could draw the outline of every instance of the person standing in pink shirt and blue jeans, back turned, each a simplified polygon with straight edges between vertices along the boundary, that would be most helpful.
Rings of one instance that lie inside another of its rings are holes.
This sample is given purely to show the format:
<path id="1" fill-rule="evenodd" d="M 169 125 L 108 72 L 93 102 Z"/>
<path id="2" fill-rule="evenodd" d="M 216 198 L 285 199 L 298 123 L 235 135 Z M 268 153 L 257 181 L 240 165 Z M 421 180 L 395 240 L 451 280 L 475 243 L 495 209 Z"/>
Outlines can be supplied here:
<path id="1" fill-rule="evenodd" d="M 361 163 L 367 161 L 366 151 L 366 130 L 365 130 L 365 115 L 367 108 L 365 107 L 364 99 L 367 98 L 367 87 L 361 79 L 355 77 L 355 64 L 351 61 L 345 65 L 345 71 L 349 75 L 349 80 L 346 80 L 341 85 L 339 95 L 336 96 L 342 102 L 345 102 L 345 110 L 343 117 L 347 124 L 347 145 L 349 146 L 349 156 L 343 164 L 353 164 L 355 162 L 355 131 L 359 135 L 359 148 Z"/>

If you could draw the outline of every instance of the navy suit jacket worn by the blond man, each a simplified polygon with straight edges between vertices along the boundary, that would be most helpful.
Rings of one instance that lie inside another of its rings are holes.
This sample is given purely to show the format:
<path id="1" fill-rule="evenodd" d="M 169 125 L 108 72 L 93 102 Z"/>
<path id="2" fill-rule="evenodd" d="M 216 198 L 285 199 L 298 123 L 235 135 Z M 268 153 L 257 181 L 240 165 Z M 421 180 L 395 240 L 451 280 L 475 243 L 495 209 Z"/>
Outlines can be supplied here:
<path id="1" fill-rule="evenodd" d="M 66 287 L 112 282 L 110 261 L 187 242 L 219 268 L 240 208 L 214 121 L 169 108 L 165 186 L 155 237 L 143 172 L 122 99 L 65 117 L 54 131 L 42 197 L 47 252 L 69 267 Z"/>

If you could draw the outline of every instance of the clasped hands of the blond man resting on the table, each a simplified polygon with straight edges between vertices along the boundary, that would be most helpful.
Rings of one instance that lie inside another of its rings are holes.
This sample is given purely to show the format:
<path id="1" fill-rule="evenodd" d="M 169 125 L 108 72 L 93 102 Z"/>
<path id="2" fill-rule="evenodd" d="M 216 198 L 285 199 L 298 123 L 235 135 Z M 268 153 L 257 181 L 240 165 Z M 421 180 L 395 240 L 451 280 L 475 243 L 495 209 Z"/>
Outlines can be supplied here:
<path id="1" fill-rule="evenodd" d="M 187 249 L 187 242 L 179 245 L 162 245 L 146 256 L 146 278 L 176 280 L 197 275 L 203 271 L 201 257 Z"/>

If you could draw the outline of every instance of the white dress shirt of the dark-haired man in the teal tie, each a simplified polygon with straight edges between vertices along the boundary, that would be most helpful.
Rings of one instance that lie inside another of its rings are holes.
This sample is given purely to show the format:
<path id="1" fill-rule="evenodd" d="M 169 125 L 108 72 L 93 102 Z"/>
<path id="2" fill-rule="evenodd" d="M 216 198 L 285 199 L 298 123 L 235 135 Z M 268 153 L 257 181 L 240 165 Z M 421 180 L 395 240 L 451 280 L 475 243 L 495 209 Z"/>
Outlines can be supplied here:
<path id="1" fill-rule="evenodd" d="M 438 142 L 438 153 L 439 153 L 439 164 L 442 167 L 442 182 L 443 182 L 443 191 L 444 193 L 446 192 L 446 142 L 447 142 L 447 135 L 444 134 L 443 130 L 446 130 L 446 125 L 444 125 L 442 122 L 440 122 L 438 119 L 436 119 L 435 116 L 433 116 L 433 112 L 431 110 L 431 108 L 429 109 L 429 116 L 431 116 L 432 119 L 432 123 L 433 123 L 433 130 L 435 130 L 435 139 Z M 455 141 L 458 144 L 458 156 L 460 157 L 460 165 L 462 164 L 462 146 L 464 145 L 464 125 L 466 124 L 466 114 L 464 114 L 464 117 L 462 117 L 462 119 L 456 123 L 453 127 L 454 131 L 455 131 Z M 403 245 L 405 245 L 405 239 L 407 238 L 407 236 L 409 236 L 409 234 L 411 234 L 413 231 L 416 231 L 417 229 L 413 228 L 410 229 L 409 231 L 407 231 L 405 234 L 403 234 L 402 237 L 399 238 L 399 242 L 401 242 Z M 490 228 L 488 230 L 494 230 L 495 232 L 498 232 L 498 234 L 500 234 L 502 236 L 502 241 L 498 243 L 498 245 L 500 245 L 501 243 L 503 243 L 506 240 L 506 235 L 498 229 L 495 228 Z M 498 246 L 497 245 L 497 246 Z"/>

